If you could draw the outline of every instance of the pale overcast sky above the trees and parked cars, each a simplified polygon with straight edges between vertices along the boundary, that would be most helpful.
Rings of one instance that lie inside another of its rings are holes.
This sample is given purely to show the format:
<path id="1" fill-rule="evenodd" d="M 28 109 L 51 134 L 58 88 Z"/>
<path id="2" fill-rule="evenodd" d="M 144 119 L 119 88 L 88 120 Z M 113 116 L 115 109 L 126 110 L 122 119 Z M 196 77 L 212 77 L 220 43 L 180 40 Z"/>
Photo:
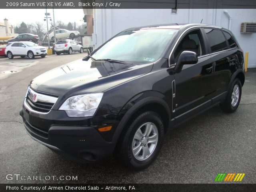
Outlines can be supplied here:
<path id="1" fill-rule="evenodd" d="M 44 21 L 45 9 L 0 9 L 0 22 L 4 22 L 4 18 L 9 20 L 9 24 L 16 26 L 22 21 L 25 23 L 34 23 L 36 21 L 42 22 L 46 26 Z M 47 9 L 52 17 L 52 9 Z M 82 9 L 54 9 L 55 22 L 58 20 L 64 23 L 76 22 L 76 26 L 84 23 L 82 20 L 84 12 Z M 53 18 L 52 18 L 53 21 Z"/>

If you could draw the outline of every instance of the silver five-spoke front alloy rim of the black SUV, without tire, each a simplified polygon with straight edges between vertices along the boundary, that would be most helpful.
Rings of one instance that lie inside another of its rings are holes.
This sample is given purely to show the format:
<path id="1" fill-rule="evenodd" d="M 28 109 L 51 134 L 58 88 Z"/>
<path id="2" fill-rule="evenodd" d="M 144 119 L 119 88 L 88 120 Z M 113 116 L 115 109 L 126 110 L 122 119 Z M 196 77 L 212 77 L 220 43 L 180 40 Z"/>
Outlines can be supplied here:
<path id="1" fill-rule="evenodd" d="M 144 123 L 136 131 L 132 140 L 132 154 L 137 160 L 149 158 L 158 142 L 158 129 L 152 122 Z"/>

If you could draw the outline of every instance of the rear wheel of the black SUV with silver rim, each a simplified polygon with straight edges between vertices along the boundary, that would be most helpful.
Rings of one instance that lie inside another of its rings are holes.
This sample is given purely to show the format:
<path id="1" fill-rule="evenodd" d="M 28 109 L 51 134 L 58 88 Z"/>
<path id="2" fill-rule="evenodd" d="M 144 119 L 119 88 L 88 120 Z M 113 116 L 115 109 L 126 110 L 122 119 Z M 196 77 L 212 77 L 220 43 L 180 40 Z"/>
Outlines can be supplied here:
<path id="1" fill-rule="evenodd" d="M 239 106 L 241 95 L 242 84 L 241 81 L 236 78 L 230 86 L 230 90 L 228 91 L 225 101 L 220 103 L 221 110 L 226 113 L 235 112 Z"/>

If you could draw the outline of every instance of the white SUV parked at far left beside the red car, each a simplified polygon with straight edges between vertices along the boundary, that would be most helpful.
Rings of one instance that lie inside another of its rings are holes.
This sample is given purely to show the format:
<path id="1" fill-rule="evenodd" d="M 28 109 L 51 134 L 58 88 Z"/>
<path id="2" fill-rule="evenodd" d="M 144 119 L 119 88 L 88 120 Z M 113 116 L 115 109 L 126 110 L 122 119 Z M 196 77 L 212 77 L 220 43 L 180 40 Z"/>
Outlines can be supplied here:
<path id="1" fill-rule="evenodd" d="M 21 41 L 10 43 L 6 47 L 5 54 L 9 59 L 12 59 L 14 56 L 20 56 L 21 58 L 28 56 L 30 59 L 35 56 L 44 58 L 47 55 L 47 50 L 45 47 L 38 46 L 38 44 L 33 42 Z"/>

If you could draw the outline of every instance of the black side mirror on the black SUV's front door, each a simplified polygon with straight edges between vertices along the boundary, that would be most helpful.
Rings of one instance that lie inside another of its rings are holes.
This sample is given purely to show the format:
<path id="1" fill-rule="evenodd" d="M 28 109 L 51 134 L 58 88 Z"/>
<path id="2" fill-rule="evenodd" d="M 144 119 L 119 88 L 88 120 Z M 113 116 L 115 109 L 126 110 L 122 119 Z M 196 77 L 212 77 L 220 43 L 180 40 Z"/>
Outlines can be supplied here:
<path id="1" fill-rule="evenodd" d="M 178 61 L 174 67 L 174 70 L 176 73 L 179 73 L 181 72 L 183 65 L 196 64 L 197 62 L 198 62 L 198 58 L 195 52 L 183 51 L 178 58 Z"/>

